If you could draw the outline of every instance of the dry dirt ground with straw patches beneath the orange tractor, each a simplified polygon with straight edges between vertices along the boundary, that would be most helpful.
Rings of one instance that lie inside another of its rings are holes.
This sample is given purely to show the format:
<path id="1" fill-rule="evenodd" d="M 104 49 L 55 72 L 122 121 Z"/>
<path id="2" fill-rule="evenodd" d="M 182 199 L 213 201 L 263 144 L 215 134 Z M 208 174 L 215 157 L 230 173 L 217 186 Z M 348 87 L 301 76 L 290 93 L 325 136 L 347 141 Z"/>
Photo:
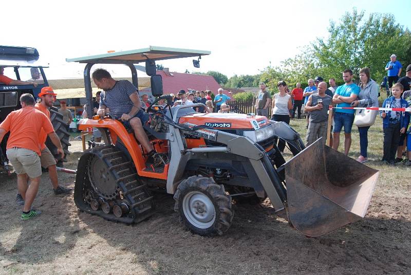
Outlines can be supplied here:
<path id="1" fill-rule="evenodd" d="M 72 141 L 66 168 L 76 169 Z M 301 235 L 269 202 L 234 205 L 229 231 L 194 235 L 179 223 L 171 195 L 156 194 L 157 213 L 133 226 L 79 212 L 73 197 L 55 196 L 48 174 L 34 201 L 42 210 L 21 221 L 16 177 L 0 175 L 0 273 L 14 274 L 406 274 L 411 273 L 409 168 L 386 169 L 362 221 L 318 238 Z M 74 175 L 59 173 L 73 187 Z"/>

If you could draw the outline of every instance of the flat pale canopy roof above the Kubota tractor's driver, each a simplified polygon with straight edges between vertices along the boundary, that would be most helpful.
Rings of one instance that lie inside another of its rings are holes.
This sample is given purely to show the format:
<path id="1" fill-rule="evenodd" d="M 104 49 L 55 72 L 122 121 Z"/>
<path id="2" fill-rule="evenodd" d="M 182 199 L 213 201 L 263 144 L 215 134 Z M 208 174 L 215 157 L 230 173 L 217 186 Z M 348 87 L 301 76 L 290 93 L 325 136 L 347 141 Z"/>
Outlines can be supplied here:
<path id="1" fill-rule="evenodd" d="M 204 50 L 178 49 L 149 46 L 148 48 L 108 52 L 95 56 L 67 58 L 67 62 L 79 63 L 94 63 L 94 64 L 124 64 L 124 63 L 140 63 L 147 60 L 166 60 L 185 57 L 201 57 L 207 56 L 211 52 Z"/>

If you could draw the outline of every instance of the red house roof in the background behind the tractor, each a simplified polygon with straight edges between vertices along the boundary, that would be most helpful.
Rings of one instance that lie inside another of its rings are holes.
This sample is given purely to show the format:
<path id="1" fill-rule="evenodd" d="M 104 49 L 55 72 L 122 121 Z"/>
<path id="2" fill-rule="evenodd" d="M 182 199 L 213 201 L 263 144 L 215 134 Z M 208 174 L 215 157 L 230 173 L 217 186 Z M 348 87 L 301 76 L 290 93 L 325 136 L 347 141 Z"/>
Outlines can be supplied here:
<path id="1" fill-rule="evenodd" d="M 217 90 L 221 88 L 217 81 L 208 75 L 183 74 L 181 72 L 166 73 L 163 70 L 158 70 L 157 75 L 161 75 L 163 80 L 164 95 L 171 93 L 176 95 L 179 90 L 189 91 L 189 89 L 211 90 L 217 94 Z M 227 95 L 230 96 L 228 93 Z"/>

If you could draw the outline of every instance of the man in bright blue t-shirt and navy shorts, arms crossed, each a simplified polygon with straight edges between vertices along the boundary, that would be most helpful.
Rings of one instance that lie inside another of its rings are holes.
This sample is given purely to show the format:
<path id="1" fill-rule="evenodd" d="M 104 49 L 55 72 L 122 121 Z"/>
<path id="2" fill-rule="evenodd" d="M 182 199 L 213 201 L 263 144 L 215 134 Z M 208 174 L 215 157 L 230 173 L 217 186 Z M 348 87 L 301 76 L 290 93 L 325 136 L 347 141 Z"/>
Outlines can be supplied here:
<path id="1" fill-rule="evenodd" d="M 356 100 L 358 94 L 360 94 L 360 87 L 352 82 L 352 70 L 344 70 L 343 79 L 345 84 L 339 86 L 332 97 L 332 103 L 337 104 L 335 107 L 350 107 L 352 101 Z M 338 150 L 338 146 L 340 145 L 340 132 L 344 126 L 344 153 L 346 156 L 351 147 L 351 128 L 353 122 L 353 109 L 335 109 L 332 148 Z"/>

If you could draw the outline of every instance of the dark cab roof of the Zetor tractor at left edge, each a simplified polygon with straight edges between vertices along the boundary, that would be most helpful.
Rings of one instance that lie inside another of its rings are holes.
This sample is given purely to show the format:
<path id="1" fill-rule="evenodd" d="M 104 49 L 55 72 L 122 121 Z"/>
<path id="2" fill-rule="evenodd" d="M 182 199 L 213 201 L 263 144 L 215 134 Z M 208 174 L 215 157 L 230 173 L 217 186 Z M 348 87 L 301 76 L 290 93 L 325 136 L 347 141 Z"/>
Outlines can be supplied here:
<path id="1" fill-rule="evenodd" d="M 3 67 L 48 67 L 39 60 L 39 51 L 32 47 L 0 46 L 0 66 Z"/>

